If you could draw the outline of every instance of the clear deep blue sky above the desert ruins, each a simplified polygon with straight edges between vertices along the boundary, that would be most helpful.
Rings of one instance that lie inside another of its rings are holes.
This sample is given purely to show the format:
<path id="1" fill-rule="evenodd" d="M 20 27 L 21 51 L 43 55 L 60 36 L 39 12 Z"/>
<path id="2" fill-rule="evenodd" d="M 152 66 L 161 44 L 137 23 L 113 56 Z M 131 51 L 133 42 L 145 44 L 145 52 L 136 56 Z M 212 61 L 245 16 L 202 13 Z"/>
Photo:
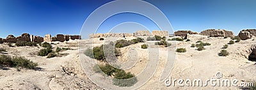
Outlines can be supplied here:
<path id="1" fill-rule="evenodd" d="M 242 29 L 256 28 L 255 0 L 145 1 L 163 11 L 174 31 L 227 29 L 238 34 Z M 90 13 L 108 2 L 110 0 L 1 0 L 0 37 L 21 33 L 79 34 Z M 107 19 L 99 31 L 109 31 L 123 22 L 138 22 L 150 30 L 158 29 L 141 15 L 122 13 Z"/>

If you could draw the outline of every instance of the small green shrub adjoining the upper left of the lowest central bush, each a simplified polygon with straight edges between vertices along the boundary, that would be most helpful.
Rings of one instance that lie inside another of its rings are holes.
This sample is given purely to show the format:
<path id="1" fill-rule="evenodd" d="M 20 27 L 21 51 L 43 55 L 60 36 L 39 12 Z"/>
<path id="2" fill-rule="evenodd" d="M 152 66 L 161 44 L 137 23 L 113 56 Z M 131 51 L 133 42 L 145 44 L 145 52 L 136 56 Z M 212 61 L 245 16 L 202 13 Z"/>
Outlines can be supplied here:
<path id="1" fill-rule="evenodd" d="M 120 69 L 111 66 L 110 64 L 99 65 L 100 70 L 108 76 L 114 75 L 115 72 L 120 71 Z"/>

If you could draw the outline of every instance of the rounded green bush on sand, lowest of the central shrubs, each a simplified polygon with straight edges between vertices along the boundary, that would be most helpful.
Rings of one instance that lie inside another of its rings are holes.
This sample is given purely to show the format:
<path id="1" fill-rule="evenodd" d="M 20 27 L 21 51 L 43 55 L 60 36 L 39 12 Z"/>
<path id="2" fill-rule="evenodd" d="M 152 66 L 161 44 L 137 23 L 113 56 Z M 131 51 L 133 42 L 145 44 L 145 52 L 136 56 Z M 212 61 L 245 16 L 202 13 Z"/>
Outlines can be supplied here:
<path id="1" fill-rule="evenodd" d="M 126 73 L 124 70 L 120 70 L 115 73 L 113 84 L 120 87 L 131 87 L 138 82 L 138 79 L 133 77 L 134 75 L 131 72 Z"/>

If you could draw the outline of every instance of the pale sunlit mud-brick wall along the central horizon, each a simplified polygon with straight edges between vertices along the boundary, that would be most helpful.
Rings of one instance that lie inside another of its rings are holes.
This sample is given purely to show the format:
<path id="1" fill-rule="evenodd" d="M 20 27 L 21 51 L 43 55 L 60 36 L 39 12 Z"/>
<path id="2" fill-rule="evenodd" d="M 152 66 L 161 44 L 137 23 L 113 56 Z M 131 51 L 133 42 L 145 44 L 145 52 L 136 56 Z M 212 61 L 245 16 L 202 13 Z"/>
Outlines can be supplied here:
<path id="1" fill-rule="evenodd" d="M 108 37 L 138 37 L 138 36 L 169 36 L 168 31 L 136 31 L 134 33 L 96 33 L 90 34 L 90 38 L 108 38 Z"/>

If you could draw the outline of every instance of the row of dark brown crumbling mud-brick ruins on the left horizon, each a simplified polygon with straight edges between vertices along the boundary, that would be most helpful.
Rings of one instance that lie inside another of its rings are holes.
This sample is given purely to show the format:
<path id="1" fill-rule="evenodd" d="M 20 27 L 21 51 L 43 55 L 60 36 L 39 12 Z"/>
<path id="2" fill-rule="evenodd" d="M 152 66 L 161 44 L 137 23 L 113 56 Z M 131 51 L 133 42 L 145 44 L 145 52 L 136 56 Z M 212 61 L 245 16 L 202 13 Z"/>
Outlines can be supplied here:
<path id="1" fill-rule="evenodd" d="M 13 36 L 12 34 L 8 35 L 5 39 L 0 38 L 0 43 L 16 43 L 17 41 L 32 41 L 36 43 L 42 43 L 44 41 L 69 41 L 69 40 L 81 40 L 80 35 L 63 35 L 57 34 L 54 37 L 51 37 L 51 34 L 46 34 L 45 37 L 34 36 L 33 34 L 23 33 L 21 36 Z"/>

